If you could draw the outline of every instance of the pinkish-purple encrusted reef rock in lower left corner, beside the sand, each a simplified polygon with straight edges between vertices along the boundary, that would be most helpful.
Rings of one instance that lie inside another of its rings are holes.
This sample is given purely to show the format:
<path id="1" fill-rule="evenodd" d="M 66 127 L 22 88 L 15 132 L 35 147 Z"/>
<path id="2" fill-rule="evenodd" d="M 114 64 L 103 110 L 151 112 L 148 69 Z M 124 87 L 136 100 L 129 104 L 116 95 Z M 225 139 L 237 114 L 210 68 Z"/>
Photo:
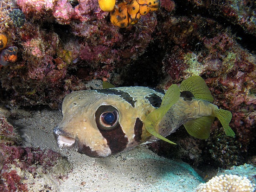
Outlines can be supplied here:
<path id="1" fill-rule="evenodd" d="M 35 178 L 41 180 L 51 173 L 56 182 L 70 172 L 70 165 L 64 157 L 52 150 L 20 146 L 20 138 L 6 117 L 0 113 L 0 191 L 34 191 Z M 32 182 L 32 183 L 31 183 Z M 47 189 L 47 186 L 43 186 Z"/>

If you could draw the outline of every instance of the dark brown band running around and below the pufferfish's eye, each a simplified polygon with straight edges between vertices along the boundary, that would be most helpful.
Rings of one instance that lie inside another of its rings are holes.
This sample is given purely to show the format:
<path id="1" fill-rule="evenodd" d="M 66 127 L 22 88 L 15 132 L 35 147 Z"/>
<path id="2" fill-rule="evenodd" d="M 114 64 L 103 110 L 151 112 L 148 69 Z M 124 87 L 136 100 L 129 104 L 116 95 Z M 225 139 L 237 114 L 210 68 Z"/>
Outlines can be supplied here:
<path id="1" fill-rule="evenodd" d="M 114 107 L 111 105 L 100 106 L 96 110 L 95 119 L 96 119 L 96 125 L 99 128 L 100 133 L 107 140 L 108 147 L 110 148 L 112 154 L 115 154 L 123 151 L 126 148 L 128 144 L 128 138 L 125 137 L 125 133 L 122 131 L 122 127 L 119 124 L 119 122 L 113 128 L 105 129 L 104 127 L 102 127 L 99 121 L 102 113 L 104 113 L 106 110 L 107 111 L 109 111 L 110 109 L 113 110 L 113 108 Z"/>

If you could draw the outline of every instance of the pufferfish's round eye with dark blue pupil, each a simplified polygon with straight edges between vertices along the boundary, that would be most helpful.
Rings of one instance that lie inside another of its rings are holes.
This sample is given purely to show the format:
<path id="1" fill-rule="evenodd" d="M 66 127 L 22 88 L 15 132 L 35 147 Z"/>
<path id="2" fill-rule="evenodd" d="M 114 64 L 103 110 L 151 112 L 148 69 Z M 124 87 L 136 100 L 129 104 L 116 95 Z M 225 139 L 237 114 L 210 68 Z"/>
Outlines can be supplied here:
<path id="1" fill-rule="evenodd" d="M 100 122 L 105 128 L 112 128 L 118 122 L 118 113 L 117 111 L 108 111 L 102 113 L 100 116 Z"/>

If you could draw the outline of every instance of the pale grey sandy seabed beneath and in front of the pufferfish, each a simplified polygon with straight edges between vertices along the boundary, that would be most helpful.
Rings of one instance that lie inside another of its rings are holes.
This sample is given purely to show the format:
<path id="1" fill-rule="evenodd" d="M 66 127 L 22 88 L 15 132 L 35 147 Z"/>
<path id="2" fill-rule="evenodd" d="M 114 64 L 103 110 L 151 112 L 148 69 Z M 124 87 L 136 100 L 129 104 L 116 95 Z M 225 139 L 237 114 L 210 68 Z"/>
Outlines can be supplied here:
<path id="1" fill-rule="evenodd" d="M 28 180 L 29 191 L 56 192 L 192 192 L 201 182 L 186 163 L 159 157 L 147 146 L 105 158 L 92 158 L 74 149 L 58 148 L 53 128 L 61 121 L 57 110 L 13 110 L 9 122 L 23 139 L 24 147 L 52 149 L 73 168 L 65 179 L 41 175 Z"/>

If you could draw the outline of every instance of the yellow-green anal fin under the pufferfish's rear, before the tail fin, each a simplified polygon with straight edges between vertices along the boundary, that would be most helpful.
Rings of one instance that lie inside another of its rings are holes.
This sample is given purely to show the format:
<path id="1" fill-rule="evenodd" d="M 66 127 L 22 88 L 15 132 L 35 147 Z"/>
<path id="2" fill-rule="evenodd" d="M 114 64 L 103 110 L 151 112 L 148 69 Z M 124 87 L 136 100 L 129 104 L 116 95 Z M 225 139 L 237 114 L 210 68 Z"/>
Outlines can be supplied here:
<path id="1" fill-rule="evenodd" d="M 214 119 L 215 117 L 213 116 L 203 116 L 186 122 L 183 125 L 191 136 L 198 139 L 208 139 L 210 137 L 210 130 Z"/>

